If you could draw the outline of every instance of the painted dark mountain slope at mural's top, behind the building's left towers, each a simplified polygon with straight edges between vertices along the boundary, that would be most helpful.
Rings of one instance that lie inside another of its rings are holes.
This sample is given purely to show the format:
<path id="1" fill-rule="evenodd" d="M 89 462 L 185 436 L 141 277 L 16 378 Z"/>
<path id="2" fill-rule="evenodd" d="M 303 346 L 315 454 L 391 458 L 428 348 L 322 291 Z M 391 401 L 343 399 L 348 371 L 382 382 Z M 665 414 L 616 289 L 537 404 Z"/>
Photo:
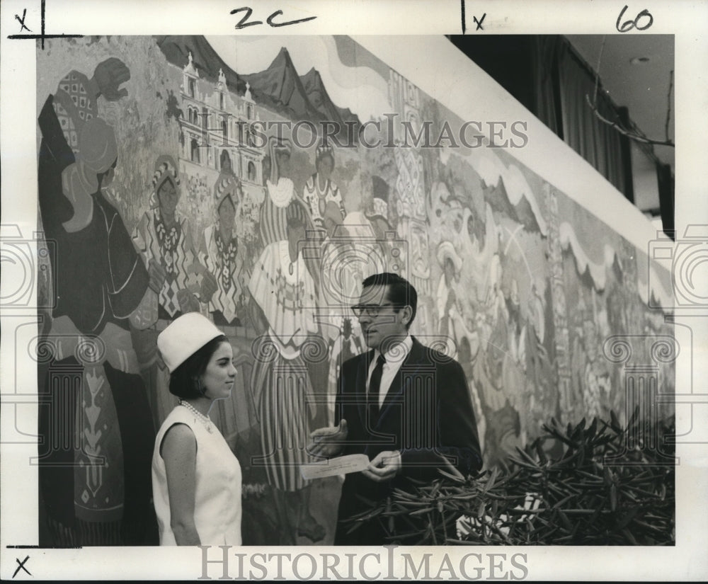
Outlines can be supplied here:
<path id="1" fill-rule="evenodd" d="M 219 69 L 222 69 L 229 89 L 239 96 L 246 93 L 246 81 L 219 57 L 204 37 L 163 35 L 156 36 L 155 40 L 166 59 L 172 64 L 185 67 L 189 61 L 188 55 L 192 53 L 193 65 L 199 71 L 201 79 L 216 83 L 219 80 Z"/>

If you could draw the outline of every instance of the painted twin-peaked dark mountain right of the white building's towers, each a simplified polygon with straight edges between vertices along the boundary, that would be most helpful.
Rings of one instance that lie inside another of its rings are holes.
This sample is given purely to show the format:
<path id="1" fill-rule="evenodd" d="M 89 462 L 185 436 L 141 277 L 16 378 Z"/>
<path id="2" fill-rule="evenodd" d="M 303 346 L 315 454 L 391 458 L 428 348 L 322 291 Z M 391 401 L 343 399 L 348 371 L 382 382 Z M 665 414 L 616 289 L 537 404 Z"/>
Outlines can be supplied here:
<path id="1" fill-rule="evenodd" d="M 292 59 L 285 47 L 280 49 L 268 69 L 260 73 L 244 75 L 251 86 L 251 95 L 256 103 L 285 115 L 295 121 L 309 120 L 336 122 L 346 134 L 344 122 L 355 122 L 355 130 L 360 125 L 359 118 L 349 109 L 338 108 L 332 103 L 316 69 L 298 76 Z"/>

